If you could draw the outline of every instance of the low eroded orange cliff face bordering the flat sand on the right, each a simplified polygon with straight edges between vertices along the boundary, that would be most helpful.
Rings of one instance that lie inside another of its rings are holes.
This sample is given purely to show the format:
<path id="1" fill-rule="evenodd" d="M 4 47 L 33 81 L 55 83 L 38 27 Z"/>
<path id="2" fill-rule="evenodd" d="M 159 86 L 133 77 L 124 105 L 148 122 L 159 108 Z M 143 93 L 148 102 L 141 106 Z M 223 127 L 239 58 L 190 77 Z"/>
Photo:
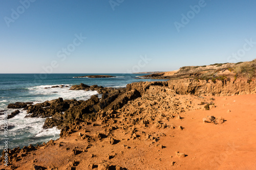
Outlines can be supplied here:
<path id="1" fill-rule="evenodd" d="M 157 88 L 154 88 L 158 86 Z M 159 88 L 161 87 L 161 88 Z M 236 81 L 212 81 L 180 79 L 169 80 L 167 82 L 140 82 L 127 85 L 127 90 L 136 89 L 140 93 L 154 94 L 157 92 L 168 92 L 177 94 L 194 94 L 194 95 L 238 95 L 256 93 L 256 81 L 248 83 L 246 80 Z"/>

